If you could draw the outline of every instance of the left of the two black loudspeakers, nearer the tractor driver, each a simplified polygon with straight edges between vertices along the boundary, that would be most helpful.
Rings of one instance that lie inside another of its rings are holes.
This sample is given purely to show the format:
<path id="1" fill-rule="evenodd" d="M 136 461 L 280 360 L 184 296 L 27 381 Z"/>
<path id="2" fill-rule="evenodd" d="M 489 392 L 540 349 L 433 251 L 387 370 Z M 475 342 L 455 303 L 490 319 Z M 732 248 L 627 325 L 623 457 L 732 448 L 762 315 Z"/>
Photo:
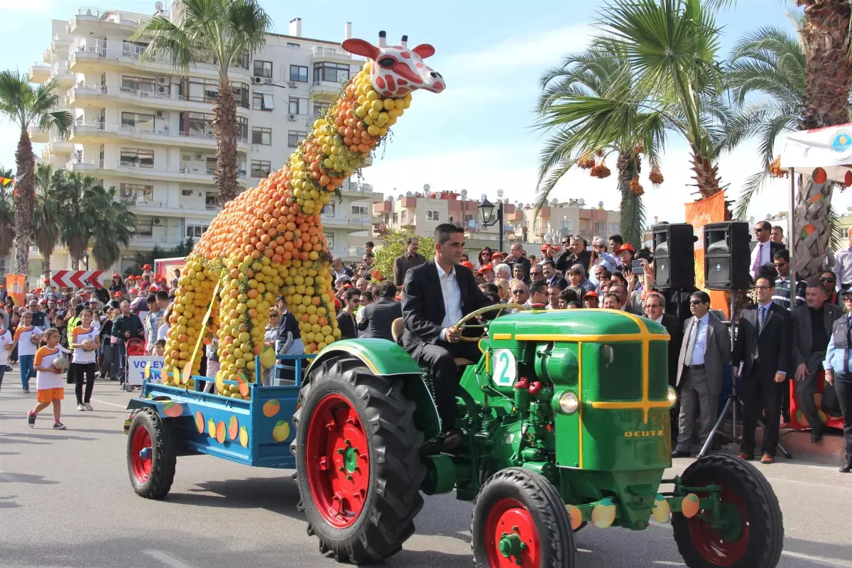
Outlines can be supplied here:
<path id="1" fill-rule="evenodd" d="M 689 288 L 695 284 L 695 246 L 689 223 L 660 223 L 653 232 L 653 279 L 657 288 Z"/>

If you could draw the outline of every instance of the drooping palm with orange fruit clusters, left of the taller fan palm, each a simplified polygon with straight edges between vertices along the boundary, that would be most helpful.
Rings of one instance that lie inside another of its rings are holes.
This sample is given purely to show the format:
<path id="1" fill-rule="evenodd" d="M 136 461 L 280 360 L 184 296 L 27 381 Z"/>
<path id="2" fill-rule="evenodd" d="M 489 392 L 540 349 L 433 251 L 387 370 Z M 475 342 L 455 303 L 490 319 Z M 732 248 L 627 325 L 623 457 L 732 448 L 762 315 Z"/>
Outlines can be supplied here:
<path id="1" fill-rule="evenodd" d="M 651 180 L 661 182 L 657 150 L 665 141 L 665 122 L 659 112 L 637 104 L 646 94 L 634 80 L 624 49 L 598 41 L 545 72 L 541 86 L 538 125 L 554 134 L 541 155 L 536 207 L 547 204 L 556 182 L 574 166 L 606 177 L 604 162 L 617 154 L 620 231 L 625 242 L 638 246 L 645 218 L 639 183 L 642 155 L 653 167 Z"/>

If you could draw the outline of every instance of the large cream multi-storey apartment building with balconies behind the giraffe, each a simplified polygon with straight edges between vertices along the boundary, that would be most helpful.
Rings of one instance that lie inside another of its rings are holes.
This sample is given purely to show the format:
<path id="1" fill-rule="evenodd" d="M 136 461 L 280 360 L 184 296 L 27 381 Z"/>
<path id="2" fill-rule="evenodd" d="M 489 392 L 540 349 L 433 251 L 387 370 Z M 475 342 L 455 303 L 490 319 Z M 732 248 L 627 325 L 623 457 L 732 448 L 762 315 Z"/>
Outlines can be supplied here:
<path id="1" fill-rule="evenodd" d="M 162 3 L 156 10 L 165 14 Z M 184 73 L 147 55 L 147 43 L 130 37 L 150 17 L 78 9 L 67 21 L 51 22 L 43 63 L 30 69 L 37 83 L 58 80 L 61 110 L 74 118 L 65 140 L 32 131 L 32 141 L 43 144 L 42 161 L 116 186 L 136 215 L 130 248 L 113 270 L 133 264 L 136 250 L 155 244 L 168 249 L 186 238 L 198 239 L 219 210 L 213 179 L 216 66 L 198 62 Z M 341 41 L 349 37 L 351 24 L 343 32 Z M 256 186 L 285 164 L 341 83 L 362 64 L 339 42 L 302 37 L 302 20 L 296 18 L 288 34 L 269 34 L 260 52 L 246 54 L 231 67 L 241 130 L 239 185 Z M 347 181 L 343 202 L 334 200 L 323 211 L 332 254 L 354 260 L 349 234 L 369 232 L 371 195 L 371 186 Z M 37 265 L 38 258 L 33 250 L 31 264 Z M 63 268 L 70 260 L 59 251 L 52 264 Z M 38 267 L 32 272 L 37 274 Z"/>

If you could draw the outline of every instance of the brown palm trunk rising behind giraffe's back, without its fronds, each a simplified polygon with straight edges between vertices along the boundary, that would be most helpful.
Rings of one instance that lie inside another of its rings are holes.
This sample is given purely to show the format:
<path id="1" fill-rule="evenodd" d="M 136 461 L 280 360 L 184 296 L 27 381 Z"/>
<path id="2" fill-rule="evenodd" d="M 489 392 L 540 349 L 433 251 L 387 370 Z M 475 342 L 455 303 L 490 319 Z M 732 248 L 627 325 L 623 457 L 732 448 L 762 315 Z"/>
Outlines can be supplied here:
<path id="1" fill-rule="evenodd" d="M 216 107 L 213 109 L 213 132 L 216 134 L 216 186 L 219 188 L 219 204 L 224 207 L 237 197 L 237 138 L 240 135 L 237 123 L 237 103 L 233 99 L 231 82 L 220 77 Z"/>

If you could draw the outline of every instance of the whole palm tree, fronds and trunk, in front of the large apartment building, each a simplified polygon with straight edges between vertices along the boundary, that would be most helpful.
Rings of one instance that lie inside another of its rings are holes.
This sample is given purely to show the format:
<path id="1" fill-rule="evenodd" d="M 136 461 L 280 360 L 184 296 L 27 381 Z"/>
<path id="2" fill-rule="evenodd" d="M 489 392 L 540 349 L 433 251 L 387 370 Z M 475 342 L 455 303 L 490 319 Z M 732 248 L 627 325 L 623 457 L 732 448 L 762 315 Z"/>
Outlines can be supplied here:
<path id="1" fill-rule="evenodd" d="M 216 135 L 216 185 L 219 203 L 237 196 L 237 105 L 228 67 L 248 61 L 266 43 L 272 20 L 257 0 L 178 0 L 177 23 L 154 16 L 132 39 L 151 38 L 146 54 L 164 57 L 186 72 L 194 62 L 212 61 L 219 71 L 213 132 Z M 246 63 L 247 65 L 247 63 Z"/>

